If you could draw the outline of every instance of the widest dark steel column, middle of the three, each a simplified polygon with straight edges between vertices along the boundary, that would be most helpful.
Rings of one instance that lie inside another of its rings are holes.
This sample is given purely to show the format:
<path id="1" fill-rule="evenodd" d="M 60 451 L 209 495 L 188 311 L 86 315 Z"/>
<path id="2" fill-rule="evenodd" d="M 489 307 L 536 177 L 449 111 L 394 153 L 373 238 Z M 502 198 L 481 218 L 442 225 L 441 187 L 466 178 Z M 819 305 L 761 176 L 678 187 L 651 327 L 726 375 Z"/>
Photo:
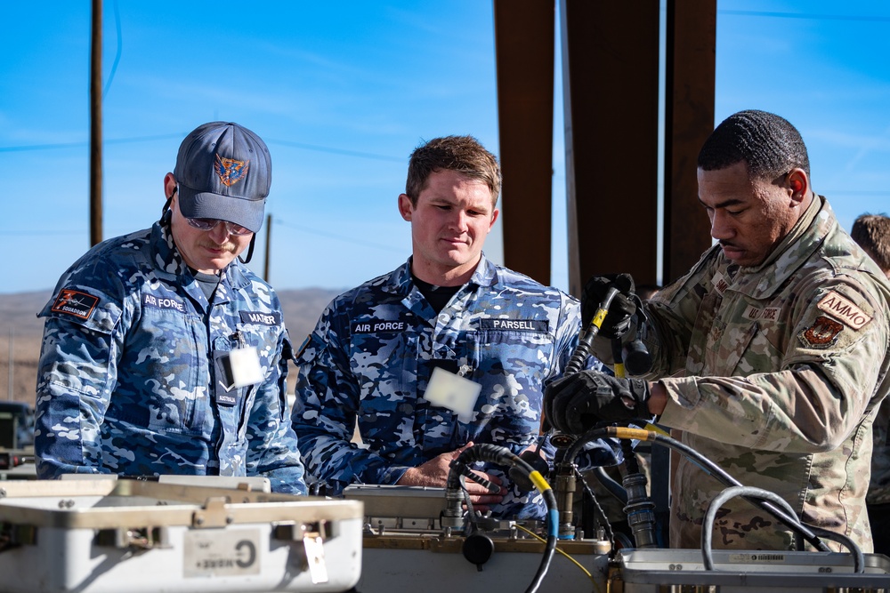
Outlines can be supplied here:
<path id="1" fill-rule="evenodd" d="M 569 283 L 656 280 L 659 2 L 563 0 Z"/>

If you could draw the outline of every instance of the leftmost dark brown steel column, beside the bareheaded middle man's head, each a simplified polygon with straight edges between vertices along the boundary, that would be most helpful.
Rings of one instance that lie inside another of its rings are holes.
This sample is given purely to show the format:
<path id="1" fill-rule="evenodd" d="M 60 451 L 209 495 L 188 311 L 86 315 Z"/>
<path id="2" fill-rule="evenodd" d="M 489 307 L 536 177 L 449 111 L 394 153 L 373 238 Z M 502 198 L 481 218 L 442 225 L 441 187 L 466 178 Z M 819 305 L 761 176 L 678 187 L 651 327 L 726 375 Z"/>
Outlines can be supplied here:
<path id="1" fill-rule="evenodd" d="M 494 0 L 508 268 L 550 284 L 554 0 Z"/>

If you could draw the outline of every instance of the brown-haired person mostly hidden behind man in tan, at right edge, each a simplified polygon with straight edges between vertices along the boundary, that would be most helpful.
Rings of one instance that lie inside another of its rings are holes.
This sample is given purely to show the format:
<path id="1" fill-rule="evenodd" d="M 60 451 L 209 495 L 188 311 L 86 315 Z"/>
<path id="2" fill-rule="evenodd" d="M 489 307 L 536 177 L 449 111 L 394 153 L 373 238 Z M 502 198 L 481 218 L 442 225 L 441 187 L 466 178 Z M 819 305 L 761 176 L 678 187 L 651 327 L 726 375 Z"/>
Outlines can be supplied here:
<path id="1" fill-rule="evenodd" d="M 890 218 L 885 214 L 862 214 L 850 231 L 862 251 L 890 278 Z M 874 451 L 871 453 L 871 484 L 865 501 L 869 509 L 875 551 L 890 556 L 890 398 L 878 410 L 874 425 Z"/>

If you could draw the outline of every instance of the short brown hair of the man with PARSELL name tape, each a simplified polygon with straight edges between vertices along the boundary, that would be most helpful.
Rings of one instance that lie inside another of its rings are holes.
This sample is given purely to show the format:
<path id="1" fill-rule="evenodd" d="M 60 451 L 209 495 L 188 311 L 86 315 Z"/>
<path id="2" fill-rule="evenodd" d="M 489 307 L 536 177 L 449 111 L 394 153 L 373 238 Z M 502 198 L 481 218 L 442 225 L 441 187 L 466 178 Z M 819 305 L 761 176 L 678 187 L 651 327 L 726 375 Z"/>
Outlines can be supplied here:
<path id="1" fill-rule="evenodd" d="M 456 171 L 473 180 L 485 183 L 491 191 L 491 204 L 498 203 L 501 171 L 498 158 L 485 149 L 473 136 L 444 136 L 424 142 L 411 153 L 405 194 L 411 204 L 426 187 L 433 172 Z"/>

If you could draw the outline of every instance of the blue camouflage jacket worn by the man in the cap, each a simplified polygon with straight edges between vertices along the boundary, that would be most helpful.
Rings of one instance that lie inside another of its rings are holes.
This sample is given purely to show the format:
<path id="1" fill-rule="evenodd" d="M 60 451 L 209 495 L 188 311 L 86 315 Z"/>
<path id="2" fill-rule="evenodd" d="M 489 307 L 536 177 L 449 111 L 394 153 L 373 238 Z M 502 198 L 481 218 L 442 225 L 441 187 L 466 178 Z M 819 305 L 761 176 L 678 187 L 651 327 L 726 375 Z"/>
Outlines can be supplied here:
<path id="1" fill-rule="evenodd" d="M 38 477 L 262 476 L 306 493 L 278 296 L 238 260 L 208 303 L 155 223 L 93 247 L 38 317 Z M 263 381 L 231 386 L 223 366 L 239 347 L 257 350 Z"/>

